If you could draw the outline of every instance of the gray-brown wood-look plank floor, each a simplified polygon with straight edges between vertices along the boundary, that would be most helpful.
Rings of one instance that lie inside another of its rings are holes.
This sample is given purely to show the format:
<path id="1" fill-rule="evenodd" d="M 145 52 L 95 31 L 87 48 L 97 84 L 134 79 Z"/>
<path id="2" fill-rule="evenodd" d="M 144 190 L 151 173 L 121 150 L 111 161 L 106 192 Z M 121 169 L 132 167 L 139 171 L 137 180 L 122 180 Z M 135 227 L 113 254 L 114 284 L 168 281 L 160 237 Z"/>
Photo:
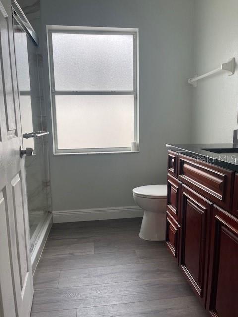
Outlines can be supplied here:
<path id="1" fill-rule="evenodd" d="M 164 242 L 140 218 L 54 224 L 31 317 L 208 317 Z"/>

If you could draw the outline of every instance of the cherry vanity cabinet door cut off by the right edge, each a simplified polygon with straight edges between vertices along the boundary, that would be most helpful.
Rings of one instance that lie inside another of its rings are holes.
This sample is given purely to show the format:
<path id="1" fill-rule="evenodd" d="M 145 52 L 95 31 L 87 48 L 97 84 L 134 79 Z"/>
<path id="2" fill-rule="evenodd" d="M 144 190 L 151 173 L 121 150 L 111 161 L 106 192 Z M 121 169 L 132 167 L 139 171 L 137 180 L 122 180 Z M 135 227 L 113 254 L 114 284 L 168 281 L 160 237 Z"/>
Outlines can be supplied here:
<path id="1" fill-rule="evenodd" d="M 207 308 L 214 317 L 238 316 L 238 219 L 214 206 Z"/>

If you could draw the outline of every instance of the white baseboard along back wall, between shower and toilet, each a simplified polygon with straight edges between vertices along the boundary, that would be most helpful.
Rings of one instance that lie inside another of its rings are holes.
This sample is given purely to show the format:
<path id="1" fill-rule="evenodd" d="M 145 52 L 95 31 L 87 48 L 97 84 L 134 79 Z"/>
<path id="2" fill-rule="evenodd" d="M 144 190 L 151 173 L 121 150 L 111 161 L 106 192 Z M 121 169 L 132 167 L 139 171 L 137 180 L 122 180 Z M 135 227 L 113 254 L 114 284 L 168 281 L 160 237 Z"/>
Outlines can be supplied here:
<path id="1" fill-rule="evenodd" d="M 52 211 L 53 223 L 143 217 L 139 206 Z"/>

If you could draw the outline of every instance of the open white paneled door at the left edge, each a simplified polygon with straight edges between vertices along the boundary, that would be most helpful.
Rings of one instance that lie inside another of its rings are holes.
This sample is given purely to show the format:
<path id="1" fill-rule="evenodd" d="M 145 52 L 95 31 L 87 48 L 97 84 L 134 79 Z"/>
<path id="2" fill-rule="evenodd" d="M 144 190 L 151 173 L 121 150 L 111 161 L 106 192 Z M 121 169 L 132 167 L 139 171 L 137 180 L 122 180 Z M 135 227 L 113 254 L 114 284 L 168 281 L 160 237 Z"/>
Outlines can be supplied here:
<path id="1" fill-rule="evenodd" d="M 10 0 L 0 0 L 0 317 L 29 317 L 33 282 Z"/>

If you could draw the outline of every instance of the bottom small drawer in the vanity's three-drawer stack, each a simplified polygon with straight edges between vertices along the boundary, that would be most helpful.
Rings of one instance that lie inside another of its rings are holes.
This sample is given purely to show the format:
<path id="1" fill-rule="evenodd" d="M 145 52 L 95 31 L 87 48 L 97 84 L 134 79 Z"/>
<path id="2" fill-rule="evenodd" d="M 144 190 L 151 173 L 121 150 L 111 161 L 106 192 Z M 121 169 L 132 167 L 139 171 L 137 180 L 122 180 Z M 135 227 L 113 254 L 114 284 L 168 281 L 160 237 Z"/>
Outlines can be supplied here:
<path id="1" fill-rule="evenodd" d="M 179 264 L 179 224 L 174 220 L 174 218 L 166 211 L 166 244 L 169 251 L 177 259 Z"/>

